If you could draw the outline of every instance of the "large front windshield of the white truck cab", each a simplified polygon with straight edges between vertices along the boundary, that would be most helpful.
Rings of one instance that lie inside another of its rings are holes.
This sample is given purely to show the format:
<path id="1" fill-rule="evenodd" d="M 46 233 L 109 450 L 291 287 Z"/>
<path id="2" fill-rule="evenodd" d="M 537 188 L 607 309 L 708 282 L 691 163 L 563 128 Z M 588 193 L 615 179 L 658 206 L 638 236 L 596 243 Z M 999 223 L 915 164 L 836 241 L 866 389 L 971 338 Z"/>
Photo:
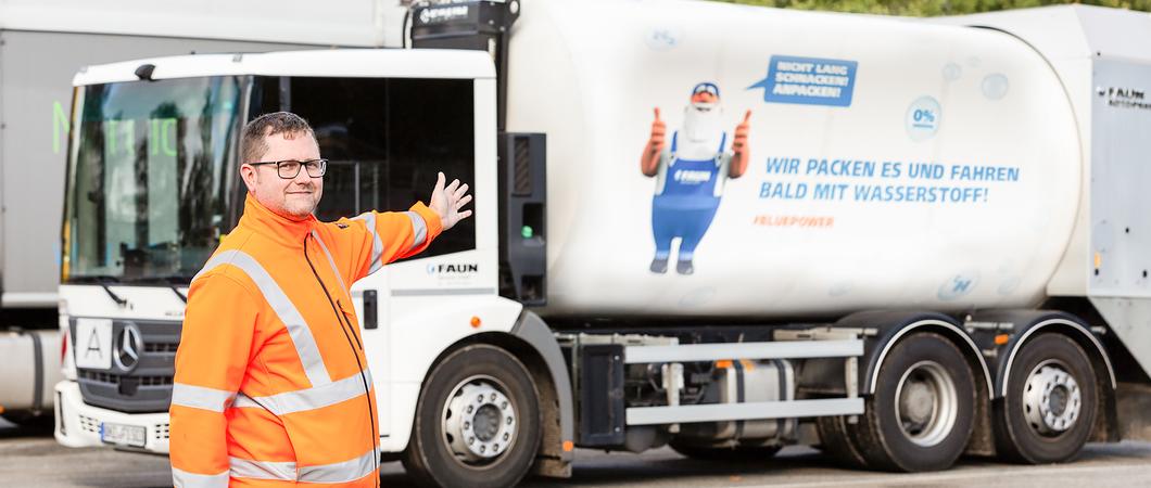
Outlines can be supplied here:
<path id="1" fill-rule="evenodd" d="M 241 78 L 76 90 L 64 282 L 188 282 L 227 232 Z"/>

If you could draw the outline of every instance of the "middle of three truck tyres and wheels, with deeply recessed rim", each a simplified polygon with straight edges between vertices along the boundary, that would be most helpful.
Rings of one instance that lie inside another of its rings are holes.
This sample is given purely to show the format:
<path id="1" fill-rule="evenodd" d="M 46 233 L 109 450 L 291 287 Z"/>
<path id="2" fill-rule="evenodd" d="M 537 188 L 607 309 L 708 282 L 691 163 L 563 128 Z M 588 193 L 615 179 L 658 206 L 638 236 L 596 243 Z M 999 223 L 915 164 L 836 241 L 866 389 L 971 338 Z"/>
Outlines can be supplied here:
<path id="1" fill-rule="evenodd" d="M 900 340 L 879 366 L 875 394 L 854 427 L 870 467 L 936 471 L 967 447 L 975 380 L 962 353 L 935 333 Z"/>

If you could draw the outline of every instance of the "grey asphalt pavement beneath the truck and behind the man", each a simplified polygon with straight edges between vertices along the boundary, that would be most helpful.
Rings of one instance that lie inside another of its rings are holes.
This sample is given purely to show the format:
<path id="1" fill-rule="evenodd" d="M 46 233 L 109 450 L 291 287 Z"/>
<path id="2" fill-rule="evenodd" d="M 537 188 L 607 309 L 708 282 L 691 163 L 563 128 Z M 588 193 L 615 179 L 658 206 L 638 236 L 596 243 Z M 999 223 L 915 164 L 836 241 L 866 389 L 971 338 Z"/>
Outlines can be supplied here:
<path id="1" fill-rule="evenodd" d="M 399 463 L 382 466 L 382 486 L 410 487 Z M 170 486 L 168 458 L 112 449 L 69 449 L 46 428 L 0 420 L 0 487 Z M 569 480 L 529 478 L 525 487 L 1141 487 L 1151 486 L 1151 442 L 1089 444 L 1072 463 L 1022 466 L 965 458 L 936 473 L 893 474 L 837 466 L 818 450 L 788 447 L 755 463 L 687 459 L 671 449 L 642 455 L 577 451 Z"/>

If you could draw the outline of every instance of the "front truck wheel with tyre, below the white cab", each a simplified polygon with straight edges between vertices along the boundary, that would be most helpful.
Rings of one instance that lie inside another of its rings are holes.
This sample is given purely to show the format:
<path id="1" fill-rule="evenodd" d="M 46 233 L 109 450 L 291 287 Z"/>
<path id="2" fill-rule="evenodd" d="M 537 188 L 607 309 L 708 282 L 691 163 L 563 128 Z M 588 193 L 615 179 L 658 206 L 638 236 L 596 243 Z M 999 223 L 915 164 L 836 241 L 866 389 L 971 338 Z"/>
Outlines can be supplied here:
<path id="1" fill-rule="evenodd" d="M 513 486 L 540 446 L 540 409 L 524 364 L 487 344 L 432 370 L 416 408 L 404 467 L 424 485 Z"/>

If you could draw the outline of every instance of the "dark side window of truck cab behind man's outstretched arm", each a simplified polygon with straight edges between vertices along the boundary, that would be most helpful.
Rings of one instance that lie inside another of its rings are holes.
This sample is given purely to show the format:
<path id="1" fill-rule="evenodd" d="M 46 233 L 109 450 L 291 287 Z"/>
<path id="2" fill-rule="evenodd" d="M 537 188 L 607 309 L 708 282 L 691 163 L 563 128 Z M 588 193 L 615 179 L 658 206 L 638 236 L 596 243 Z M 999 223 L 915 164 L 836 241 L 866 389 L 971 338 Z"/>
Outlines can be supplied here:
<path id="1" fill-rule="evenodd" d="M 312 124 L 329 160 L 320 220 L 427 203 L 437 171 L 481 197 L 471 80 L 291 78 L 290 93 L 291 111 Z M 474 249 L 474 222 L 462 222 L 419 257 Z"/>

